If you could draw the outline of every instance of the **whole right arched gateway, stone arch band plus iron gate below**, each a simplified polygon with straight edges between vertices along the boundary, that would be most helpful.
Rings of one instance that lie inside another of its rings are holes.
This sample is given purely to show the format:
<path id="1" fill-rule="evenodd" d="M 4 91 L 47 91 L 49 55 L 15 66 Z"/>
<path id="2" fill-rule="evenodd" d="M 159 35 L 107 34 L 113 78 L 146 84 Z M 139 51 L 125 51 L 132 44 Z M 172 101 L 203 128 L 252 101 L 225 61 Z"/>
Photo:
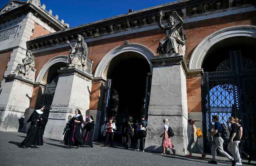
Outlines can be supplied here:
<path id="1" fill-rule="evenodd" d="M 202 112 L 204 133 L 213 129 L 211 117 L 218 115 L 226 124 L 227 118 L 242 120 L 248 136 L 245 148 L 255 147 L 256 97 L 255 26 L 234 26 L 216 31 L 195 48 L 190 69 L 203 68 Z M 204 138 L 204 149 L 210 151 L 211 141 Z"/>

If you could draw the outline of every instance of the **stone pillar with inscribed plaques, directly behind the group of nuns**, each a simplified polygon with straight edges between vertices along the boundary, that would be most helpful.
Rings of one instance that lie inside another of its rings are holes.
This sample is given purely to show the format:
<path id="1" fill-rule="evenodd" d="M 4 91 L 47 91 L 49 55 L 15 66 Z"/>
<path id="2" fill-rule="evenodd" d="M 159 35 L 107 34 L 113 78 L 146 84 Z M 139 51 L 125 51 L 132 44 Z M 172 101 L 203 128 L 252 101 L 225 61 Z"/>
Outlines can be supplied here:
<path id="1" fill-rule="evenodd" d="M 92 74 L 81 67 L 62 67 L 55 90 L 45 138 L 61 140 L 67 117 L 80 109 L 82 116 L 89 110 Z M 85 117 L 84 117 L 85 120 Z"/>

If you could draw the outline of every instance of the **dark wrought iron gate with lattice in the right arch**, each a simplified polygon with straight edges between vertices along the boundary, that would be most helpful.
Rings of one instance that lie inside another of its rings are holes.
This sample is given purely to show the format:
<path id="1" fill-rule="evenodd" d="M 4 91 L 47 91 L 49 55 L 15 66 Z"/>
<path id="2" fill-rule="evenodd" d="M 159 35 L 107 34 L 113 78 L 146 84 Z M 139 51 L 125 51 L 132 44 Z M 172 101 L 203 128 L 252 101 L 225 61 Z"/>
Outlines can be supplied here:
<path id="1" fill-rule="evenodd" d="M 202 104 L 204 133 L 213 130 L 211 118 L 219 116 L 220 123 L 236 116 L 242 120 L 248 139 L 245 147 L 256 144 L 253 138 L 256 122 L 256 63 L 231 51 L 230 58 L 223 61 L 216 72 L 205 72 L 202 77 Z M 210 151 L 211 140 L 204 137 L 204 151 Z"/>

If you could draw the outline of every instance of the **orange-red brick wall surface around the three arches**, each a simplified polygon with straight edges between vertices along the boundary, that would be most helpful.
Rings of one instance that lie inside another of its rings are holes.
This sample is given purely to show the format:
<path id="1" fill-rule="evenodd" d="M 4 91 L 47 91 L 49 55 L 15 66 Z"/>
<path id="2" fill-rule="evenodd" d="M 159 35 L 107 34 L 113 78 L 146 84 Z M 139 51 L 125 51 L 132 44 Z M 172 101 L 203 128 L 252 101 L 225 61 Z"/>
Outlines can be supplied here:
<path id="1" fill-rule="evenodd" d="M 256 11 L 240 13 L 231 16 L 212 18 L 208 20 L 201 20 L 196 22 L 190 22 L 184 24 L 185 33 L 188 37 L 186 44 L 185 59 L 189 63 L 189 58 L 195 47 L 208 35 L 230 26 L 239 25 L 256 25 Z M 34 34 L 33 34 L 34 36 Z M 138 43 L 148 47 L 154 52 L 158 47 L 159 40 L 165 38 L 161 29 L 148 30 L 140 33 L 134 33 L 129 35 L 123 35 L 118 37 L 112 37 L 107 39 L 96 40 L 88 42 L 88 58 L 93 62 L 92 74 L 94 74 L 97 65 L 101 59 L 111 49 L 123 44 L 124 40 L 129 40 L 129 43 Z M 43 65 L 51 58 L 58 55 L 68 55 L 69 47 L 63 47 L 54 50 L 48 50 L 45 52 L 35 53 L 36 58 L 36 76 L 42 69 Z M 90 109 L 100 110 L 99 95 L 100 95 L 100 83 L 94 83 L 92 85 L 92 93 L 90 100 Z M 187 78 L 187 94 L 188 94 L 188 111 L 189 112 L 201 112 L 201 78 L 200 76 Z"/>

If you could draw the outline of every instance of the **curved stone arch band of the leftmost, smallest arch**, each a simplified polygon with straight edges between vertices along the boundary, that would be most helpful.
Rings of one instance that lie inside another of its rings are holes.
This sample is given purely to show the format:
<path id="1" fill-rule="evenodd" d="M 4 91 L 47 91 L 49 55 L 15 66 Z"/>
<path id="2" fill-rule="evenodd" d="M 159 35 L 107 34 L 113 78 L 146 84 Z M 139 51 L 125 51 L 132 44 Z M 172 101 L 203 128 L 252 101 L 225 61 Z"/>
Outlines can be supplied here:
<path id="1" fill-rule="evenodd" d="M 36 77 L 36 83 L 42 83 L 43 78 L 45 76 L 45 73 L 49 70 L 49 68 L 56 64 L 56 63 L 60 63 L 60 62 L 67 62 L 67 56 L 66 55 L 59 55 L 56 56 L 52 59 L 50 59 L 44 66 L 43 68 L 40 70 L 40 72 L 38 73 L 37 77 Z"/>

